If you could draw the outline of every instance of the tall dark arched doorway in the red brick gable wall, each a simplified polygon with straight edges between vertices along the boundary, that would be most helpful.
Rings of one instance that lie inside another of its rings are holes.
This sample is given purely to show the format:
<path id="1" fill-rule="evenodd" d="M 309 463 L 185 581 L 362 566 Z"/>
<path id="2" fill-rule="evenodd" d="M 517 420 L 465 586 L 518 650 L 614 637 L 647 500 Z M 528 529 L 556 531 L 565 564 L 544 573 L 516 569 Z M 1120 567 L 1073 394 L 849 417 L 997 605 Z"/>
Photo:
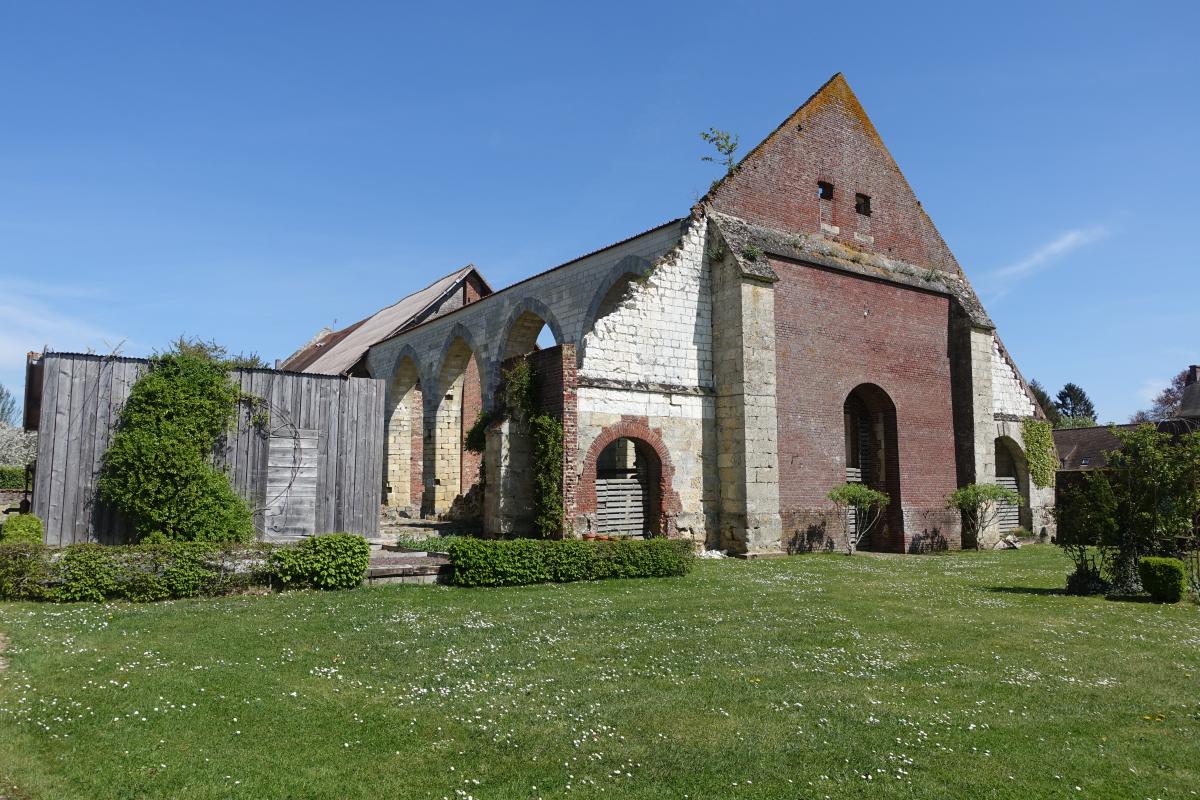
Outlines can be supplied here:
<path id="1" fill-rule="evenodd" d="M 842 422 L 846 482 L 865 483 L 889 498 L 887 512 L 871 531 L 859 540 L 858 548 L 902 551 L 896 407 L 888 393 L 875 384 L 860 384 L 850 392 L 842 404 Z M 851 533 L 853 535 L 857 531 Z"/>

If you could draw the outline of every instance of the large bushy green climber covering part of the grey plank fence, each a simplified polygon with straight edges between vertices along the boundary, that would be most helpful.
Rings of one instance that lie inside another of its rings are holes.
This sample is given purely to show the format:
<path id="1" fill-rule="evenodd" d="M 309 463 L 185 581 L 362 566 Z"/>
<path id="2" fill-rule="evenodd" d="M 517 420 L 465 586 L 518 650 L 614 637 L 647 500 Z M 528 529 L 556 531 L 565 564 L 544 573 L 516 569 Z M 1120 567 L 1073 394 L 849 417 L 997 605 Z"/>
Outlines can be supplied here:
<path id="1" fill-rule="evenodd" d="M 227 369 L 204 354 L 173 350 L 156 355 L 133 385 L 97 489 L 139 539 L 253 539 L 250 507 L 212 464 L 241 399 Z"/>

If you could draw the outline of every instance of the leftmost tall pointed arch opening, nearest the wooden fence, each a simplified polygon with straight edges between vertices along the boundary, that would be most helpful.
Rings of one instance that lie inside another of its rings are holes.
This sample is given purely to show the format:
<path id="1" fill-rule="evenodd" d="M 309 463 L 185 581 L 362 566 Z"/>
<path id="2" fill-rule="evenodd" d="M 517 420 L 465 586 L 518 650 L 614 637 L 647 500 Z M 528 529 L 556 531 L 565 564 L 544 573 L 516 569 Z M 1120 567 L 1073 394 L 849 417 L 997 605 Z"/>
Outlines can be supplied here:
<path id="1" fill-rule="evenodd" d="M 419 511 L 422 506 L 425 404 L 416 363 L 401 360 L 388 386 L 383 505 Z"/>

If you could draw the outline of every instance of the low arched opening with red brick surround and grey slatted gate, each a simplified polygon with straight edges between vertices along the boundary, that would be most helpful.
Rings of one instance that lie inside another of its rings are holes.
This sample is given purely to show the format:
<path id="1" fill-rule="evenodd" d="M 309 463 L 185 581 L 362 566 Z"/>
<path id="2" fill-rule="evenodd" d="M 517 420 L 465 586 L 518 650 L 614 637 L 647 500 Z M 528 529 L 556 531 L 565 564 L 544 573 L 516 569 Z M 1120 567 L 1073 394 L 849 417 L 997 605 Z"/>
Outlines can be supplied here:
<path id="1" fill-rule="evenodd" d="M 644 441 L 622 437 L 596 458 L 596 533 L 661 533 L 662 464 Z"/>

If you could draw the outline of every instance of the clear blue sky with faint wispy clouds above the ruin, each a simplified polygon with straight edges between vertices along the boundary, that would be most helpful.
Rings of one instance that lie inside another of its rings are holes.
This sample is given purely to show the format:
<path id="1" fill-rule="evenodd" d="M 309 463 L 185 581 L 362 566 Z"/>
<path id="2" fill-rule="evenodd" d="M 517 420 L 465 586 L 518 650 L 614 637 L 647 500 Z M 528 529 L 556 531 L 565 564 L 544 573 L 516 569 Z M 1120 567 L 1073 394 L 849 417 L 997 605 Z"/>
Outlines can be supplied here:
<path id="1" fill-rule="evenodd" d="M 978 6 L 978 7 L 977 7 Z M 180 333 L 268 357 L 462 264 L 683 215 L 846 73 L 1027 378 L 1123 421 L 1200 361 L 1200 6 L 0 6 L 0 381 Z"/>

